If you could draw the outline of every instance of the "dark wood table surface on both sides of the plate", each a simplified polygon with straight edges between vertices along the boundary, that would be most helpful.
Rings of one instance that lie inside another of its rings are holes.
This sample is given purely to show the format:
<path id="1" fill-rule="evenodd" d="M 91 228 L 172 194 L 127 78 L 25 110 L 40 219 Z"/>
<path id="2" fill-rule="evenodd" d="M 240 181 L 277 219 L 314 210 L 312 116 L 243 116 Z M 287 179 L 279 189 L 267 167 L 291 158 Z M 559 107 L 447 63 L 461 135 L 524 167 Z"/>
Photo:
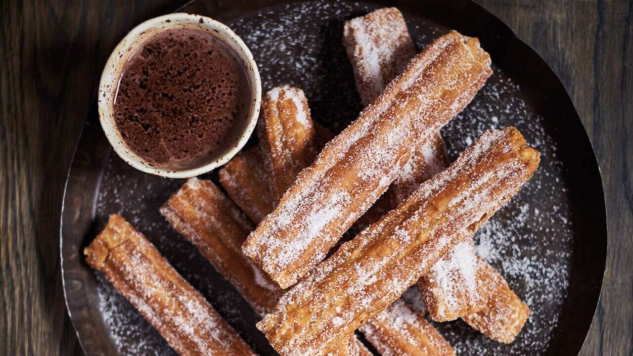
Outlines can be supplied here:
<path id="1" fill-rule="evenodd" d="M 581 355 L 632 355 L 633 1 L 478 2 L 558 73 L 591 137 L 610 246 Z M 82 354 L 60 279 L 66 171 L 110 51 L 142 20 L 184 3 L 0 2 L 1 355 Z"/>

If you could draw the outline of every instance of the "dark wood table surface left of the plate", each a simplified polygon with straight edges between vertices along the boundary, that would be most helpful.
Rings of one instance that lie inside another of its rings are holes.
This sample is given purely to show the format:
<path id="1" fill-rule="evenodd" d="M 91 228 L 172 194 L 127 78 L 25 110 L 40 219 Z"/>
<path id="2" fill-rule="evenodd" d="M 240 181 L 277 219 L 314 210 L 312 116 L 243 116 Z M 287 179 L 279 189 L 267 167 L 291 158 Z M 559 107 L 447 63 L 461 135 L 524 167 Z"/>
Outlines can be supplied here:
<path id="1" fill-rule="evenodd" d="M 111 50 L 181 3 L 0 3 L 0 354 L 81 354 L 60 279 L 66 173 Z"/>

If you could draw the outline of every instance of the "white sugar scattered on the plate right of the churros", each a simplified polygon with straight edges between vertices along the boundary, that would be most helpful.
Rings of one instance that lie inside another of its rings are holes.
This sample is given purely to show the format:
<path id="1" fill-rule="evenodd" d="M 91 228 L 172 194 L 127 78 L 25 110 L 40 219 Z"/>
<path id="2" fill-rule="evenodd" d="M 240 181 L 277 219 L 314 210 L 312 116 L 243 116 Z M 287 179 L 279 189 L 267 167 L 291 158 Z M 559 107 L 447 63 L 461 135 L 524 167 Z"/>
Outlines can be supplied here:
<path id="1" fill-rule="evenodd" d="M 475 234 L 475 250 L 505 277 L 510 288 L 530 307 L 530 316 L 510 345 L 487 340 L 465 323 L 436 324 L 458 353 L 532 355 L 546 350 L 567 298 L 572 219 L 563 165 L 556 143 L 546 132 L 545 118 L 536 115 L 520 86 L 496 68 L 472 105 L 452 120 L 442 134 L 449 156 L 455 156 L 489 127 L 515 125 L 528 143 L 541 151 L 534 177 Z"/>

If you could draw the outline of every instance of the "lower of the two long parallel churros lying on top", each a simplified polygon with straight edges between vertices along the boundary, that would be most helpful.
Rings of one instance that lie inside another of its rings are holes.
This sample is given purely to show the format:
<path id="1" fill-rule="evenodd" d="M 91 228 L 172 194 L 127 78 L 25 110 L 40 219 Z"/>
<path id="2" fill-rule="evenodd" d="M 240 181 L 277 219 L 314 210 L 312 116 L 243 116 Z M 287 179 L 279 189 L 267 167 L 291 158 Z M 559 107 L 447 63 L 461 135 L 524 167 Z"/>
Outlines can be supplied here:
<path id="1" fill-rule="evenodd" d="M 316 353 L 346 340 L 452 246 L 470 238 L 538 163 L 539 153 L 516 129 L 488 130 L 451 167 L 285 293 L 258 329 L 282 356 Z"/>

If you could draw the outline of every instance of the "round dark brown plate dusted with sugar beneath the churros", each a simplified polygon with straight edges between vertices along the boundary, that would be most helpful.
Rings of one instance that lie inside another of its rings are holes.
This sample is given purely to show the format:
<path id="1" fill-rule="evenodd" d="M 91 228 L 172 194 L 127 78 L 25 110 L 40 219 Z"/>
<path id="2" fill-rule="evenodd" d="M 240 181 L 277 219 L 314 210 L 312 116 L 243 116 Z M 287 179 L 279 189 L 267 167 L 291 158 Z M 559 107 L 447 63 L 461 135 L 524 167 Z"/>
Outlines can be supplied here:
<path id="1" fill-rule="evenodd" d="M 341 45 L 342 23 L 387 5 L 393 4 L 199 0 L 182 10 L 229 25 L 253 51 L 263 89 L 286 83 L 301 87 L 313 118 L 338 131 L 361 110 Z M 418 49 L 456 29 L 479 37 L 492 56 L 494 75 L 442 130 L 451 158 L 484 130 L 508 125 L 516 126 L 542 155 L 532 180 L 475 236 L 480 255 L 532 310 L 522 333 L 503 345 L 461 321 L 437 328 L 460 355 L 577 355 L 600 295 L 607 233 L 598 164 L 567 92 L 532 49 L 480 6 L 470 1 L 395 5 Z M 158 212 L 182 182 L 142 174 L 122 162 L 106 141 L 96 108 L 89 113 L 61 215 L 66 303 L 87 354 L 175 354 L 84 262 L 82 249 L 111 213 L 122 213 L 144 232 L 257 352 L 274 354 L 254 327 L 258 317 L 253 310 Z"/>

